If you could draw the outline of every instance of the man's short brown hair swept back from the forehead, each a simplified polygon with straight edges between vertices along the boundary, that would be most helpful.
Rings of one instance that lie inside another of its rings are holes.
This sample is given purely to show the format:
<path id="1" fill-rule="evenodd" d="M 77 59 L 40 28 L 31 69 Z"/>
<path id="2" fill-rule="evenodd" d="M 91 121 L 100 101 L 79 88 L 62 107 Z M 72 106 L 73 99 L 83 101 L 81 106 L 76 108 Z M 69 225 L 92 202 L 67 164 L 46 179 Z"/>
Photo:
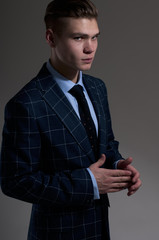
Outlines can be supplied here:
<path id="1" fill-rule="evenodd" d="M 98 11 L 90 0 L 54 0 L 46 8 L 46 28 L 52 27 L 62 17 L 97 19 Z"/>

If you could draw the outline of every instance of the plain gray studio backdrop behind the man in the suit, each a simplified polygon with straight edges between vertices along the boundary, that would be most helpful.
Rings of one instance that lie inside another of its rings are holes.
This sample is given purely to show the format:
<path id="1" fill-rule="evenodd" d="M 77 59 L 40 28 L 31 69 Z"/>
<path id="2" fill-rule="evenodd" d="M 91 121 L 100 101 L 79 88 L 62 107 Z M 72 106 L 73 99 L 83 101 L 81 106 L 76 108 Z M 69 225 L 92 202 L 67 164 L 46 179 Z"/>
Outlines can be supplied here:
<path id="1" fill-rule="evenodd" d="M 43 15 L 49 1 L 1 3 L 0 129 L 6 102 L 37 74 L 50 50 Z M 101 36 L 90 74 L 108 88 L 113 128 L 124 157 L 132 156 L 142 188 L 110 194 L 112 240 L 158 239 L 159 1 L 95 1 Z M 31 205 L 0 192 L 0 239 L 25 240 Z"/>

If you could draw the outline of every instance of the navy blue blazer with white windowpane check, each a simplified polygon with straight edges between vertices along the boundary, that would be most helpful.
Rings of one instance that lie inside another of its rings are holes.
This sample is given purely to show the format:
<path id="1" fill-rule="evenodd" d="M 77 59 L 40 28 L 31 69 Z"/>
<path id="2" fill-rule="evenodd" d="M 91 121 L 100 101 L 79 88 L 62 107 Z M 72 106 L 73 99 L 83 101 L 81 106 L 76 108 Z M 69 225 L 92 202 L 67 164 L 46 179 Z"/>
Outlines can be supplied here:
<path id="1" fill-rule="evenodd" d="M 121 159 L 104 83 L 83 74 L 99 125 L 104 167 Z M 28 240 L 109 239 L 107 195 L 94 201 L 86 168 L 97 161 L 85 129 L 46 68 L 6 105 L 1 150 L 2 191 L 33 204 Z"/>

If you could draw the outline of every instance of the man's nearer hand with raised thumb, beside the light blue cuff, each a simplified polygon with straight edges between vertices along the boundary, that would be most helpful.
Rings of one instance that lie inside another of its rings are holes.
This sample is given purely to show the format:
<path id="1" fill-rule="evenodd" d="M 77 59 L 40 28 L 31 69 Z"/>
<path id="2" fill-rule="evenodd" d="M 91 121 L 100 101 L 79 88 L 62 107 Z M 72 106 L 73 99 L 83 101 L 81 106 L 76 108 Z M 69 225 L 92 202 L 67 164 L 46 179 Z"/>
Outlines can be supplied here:
<path id="1" fill-rule="evenodd" d="M 106 156 L 102 154 L 101 158 L 89 167 L 97 181 L 99 193 L 112 193 L 129 188 L 132 182 L 132 171 L 101 168 L 105 160 Z"/>

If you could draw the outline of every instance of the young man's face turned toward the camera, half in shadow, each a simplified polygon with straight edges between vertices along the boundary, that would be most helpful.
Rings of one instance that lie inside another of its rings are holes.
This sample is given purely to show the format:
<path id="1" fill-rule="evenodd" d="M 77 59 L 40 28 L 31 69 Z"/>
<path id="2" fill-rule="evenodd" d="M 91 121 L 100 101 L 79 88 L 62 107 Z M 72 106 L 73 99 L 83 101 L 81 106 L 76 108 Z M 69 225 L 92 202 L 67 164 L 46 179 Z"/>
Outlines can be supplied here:
<path id="1" fill-rule="evenodd" d="M 53 64 L 59 72 L 89 70 L 96 50 L 96 19 L 62 18 L 62 31 L 54 33 Z M 59 22 L 60 23 L 60 22 Z"/>

